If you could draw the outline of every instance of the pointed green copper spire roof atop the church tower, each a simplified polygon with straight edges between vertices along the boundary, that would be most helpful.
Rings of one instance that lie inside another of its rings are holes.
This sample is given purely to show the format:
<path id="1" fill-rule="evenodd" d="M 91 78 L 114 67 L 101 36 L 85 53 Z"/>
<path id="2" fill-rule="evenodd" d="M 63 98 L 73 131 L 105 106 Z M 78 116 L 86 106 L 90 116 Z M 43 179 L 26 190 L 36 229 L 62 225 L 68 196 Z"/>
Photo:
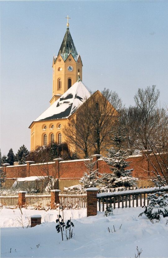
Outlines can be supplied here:
<path id="1" fill-rule="evenodd" d="M 78 53 L 77 53 L 76 47 L 73 43 L 73 39 L 71 37 L 69 28 L 67 28 L 65 36 L 63 38 L 63 42 L 59 49 L 58 55 L 61 54 L 65 60 L 68 57 L 69 53 L 72 54 L 72 56 L 75 60 L 77 59 Z"/>

